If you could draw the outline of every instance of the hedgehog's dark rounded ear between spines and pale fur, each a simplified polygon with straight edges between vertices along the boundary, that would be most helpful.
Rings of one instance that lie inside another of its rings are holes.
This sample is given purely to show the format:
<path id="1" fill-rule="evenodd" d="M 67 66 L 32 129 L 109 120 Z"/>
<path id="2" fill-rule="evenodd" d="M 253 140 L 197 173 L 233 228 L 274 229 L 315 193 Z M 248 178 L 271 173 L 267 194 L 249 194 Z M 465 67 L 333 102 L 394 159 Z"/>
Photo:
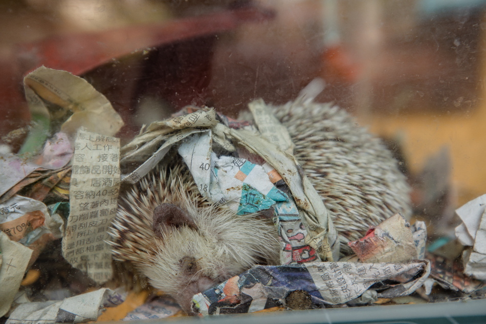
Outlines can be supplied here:
<path id="1" fill-rule="evenodd" d="M 189 226 L 196 228 L 192 217 L 181 207 L 174 204 L 160 204 L 153 210 L 152 227 L 156 236 L 161 236 L 169 227 Z"/>

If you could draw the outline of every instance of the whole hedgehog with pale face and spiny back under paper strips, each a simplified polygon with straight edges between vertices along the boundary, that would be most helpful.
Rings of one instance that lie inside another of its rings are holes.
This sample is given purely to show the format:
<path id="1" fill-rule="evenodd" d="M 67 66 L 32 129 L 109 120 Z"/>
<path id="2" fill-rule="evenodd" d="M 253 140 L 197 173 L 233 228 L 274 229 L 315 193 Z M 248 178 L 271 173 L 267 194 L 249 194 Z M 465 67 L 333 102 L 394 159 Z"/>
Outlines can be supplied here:
<path id="1" fill-rule="evenodd" d="M 269 106 L 347 243 L 395 213 L 410 217 L 409 187 L 381 141 L 332 104 Z M 278 264 L 274 225 L 207 201 L 184 162 L 162 164 L 121 195 L 111 230 L 116 260 L 130 261 L 191 314 L 191 299 L 252 265 Z"/>

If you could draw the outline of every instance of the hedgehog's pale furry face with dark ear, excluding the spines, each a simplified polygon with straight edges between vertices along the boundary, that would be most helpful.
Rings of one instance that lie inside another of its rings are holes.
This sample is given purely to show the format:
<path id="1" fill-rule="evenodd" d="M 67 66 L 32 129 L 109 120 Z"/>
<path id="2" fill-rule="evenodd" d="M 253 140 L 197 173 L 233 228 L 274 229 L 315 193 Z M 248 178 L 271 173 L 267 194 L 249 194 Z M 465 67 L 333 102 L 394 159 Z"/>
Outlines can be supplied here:
<path id="1" fill-rule="evenodd" d="M 153 287 L 172 295 L 190 313 L 193 295 L 244 272 L 257 260 L 277 260 L 275 228 L 254 216 L 214 204 L 162 203 L 153 210 L 150 260 L 140 268 Z"/>

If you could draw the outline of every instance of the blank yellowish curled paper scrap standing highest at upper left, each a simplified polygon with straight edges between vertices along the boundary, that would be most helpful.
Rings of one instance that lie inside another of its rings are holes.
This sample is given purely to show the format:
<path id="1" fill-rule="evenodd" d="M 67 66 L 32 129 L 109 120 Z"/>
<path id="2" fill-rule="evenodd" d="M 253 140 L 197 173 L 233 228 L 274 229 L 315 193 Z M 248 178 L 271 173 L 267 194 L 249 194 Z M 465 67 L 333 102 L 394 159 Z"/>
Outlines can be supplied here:
<path id="1" fill-rule="evenodd" d="M 69 72 L 40 67 L 24 78 L 24 88 L 35 125 L 19 153 L 34 152 L 58 131 L 74 135 L 83 126 L 113 136 L 123 126 L 108 99 Z M 53 128 L 56 123 L 61 124 L 59 129 Z"/>

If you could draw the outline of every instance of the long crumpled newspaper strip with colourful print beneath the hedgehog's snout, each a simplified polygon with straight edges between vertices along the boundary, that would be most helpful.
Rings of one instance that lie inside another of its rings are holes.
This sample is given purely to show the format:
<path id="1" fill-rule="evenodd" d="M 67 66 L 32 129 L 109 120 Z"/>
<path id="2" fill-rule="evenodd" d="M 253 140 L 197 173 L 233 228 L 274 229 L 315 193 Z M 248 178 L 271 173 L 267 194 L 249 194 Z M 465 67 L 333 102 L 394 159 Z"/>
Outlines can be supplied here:
<path id="1" fill-rule="evenodd" d="M 304 291 L 313 305 L 336 305 L 361 296 L 376 283 L 378 297 L 405 296 L 421 287 L 430 273 L 428 261 L 412 263 L 313 262 L 290 266 L 255 266 L 226 282 L 194 295 L 200 315 L 247 313 L 285 306 L 293 291 Z M 387 285 L 391 279 L 397 284 Z"/>

